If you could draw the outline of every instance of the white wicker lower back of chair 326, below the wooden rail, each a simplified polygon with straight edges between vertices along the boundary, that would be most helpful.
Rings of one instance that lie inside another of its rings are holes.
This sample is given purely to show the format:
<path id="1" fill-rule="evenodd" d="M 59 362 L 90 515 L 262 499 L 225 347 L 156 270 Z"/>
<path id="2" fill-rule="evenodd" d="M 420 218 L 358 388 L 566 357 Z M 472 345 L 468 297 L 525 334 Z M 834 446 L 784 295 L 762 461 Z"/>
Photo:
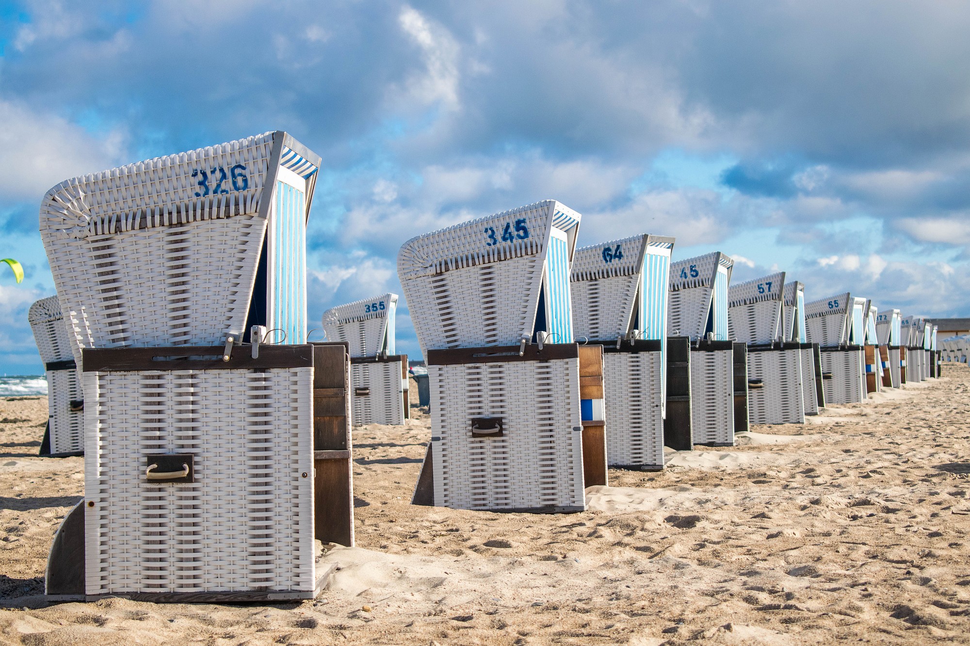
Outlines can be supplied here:
<path id="1" fill-rule="evenodd" d="M 313 590 L 312 377 L 85 372 L 86 594 Z M 146 481 L 159 453 L 196 481 Z"/>

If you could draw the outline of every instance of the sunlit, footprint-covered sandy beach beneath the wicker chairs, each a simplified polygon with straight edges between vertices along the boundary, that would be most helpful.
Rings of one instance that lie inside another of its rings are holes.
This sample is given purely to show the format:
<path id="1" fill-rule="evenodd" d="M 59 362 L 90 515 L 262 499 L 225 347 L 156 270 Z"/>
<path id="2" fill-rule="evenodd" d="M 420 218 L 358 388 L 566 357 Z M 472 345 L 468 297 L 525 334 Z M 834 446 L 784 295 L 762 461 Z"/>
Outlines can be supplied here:
<path id="1" fill-rule="evenodd" d="M 48 605 L 82 458 L 36 457 L 45 398 L 0 401 L 0 643 L 970 643 L 970 369 L 610 469 L 570 515 L 408 503 L 429 416 L 354 430 L 357 546 L 313 601 Z M 412 393 L 416 388 L 412 387 Z"/>

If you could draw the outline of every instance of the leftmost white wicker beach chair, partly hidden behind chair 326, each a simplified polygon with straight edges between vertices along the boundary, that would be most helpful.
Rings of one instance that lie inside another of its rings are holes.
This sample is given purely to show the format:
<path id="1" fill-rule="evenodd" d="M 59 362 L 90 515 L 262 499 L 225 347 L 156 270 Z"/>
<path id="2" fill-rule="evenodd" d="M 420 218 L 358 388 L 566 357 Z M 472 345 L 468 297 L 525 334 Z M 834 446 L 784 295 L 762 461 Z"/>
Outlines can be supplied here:
<path id="1" fill-rule="evenodd" d="M 34 303 L 27 312 L 48 378 L 48 428 L 41 455 L 84 453 L 84 393 L 71 341 L 56 296 Z"/>

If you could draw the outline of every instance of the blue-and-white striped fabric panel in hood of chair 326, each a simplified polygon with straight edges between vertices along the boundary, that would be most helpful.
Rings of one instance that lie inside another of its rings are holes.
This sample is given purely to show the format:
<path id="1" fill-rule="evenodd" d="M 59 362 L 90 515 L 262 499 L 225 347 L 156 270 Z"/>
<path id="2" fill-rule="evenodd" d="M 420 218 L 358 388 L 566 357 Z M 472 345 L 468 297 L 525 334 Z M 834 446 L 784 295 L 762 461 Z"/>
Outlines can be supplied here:
<path id="1" fill-rule="evenodd" d="M 271 244 L 273 262 L 273 320 L 284 343 L 307 340 L 307 229 L 306 196 L 285 181 L 276 182 L 275 217 Z M 278 336 L 277 336 L 278 335 Z"/>

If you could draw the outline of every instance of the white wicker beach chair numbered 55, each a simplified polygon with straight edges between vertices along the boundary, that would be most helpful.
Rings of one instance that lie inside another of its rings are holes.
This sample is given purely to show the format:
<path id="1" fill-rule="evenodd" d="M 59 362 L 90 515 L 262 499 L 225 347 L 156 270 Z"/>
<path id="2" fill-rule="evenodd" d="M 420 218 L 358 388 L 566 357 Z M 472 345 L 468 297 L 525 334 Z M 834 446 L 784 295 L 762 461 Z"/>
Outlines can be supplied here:
<path id="1" fill-rule="evenodd" d="M 808 338 L 820 345 L 825 404 L 865 398 L 865 304 L 848 292 L 805 304 Z"/>

